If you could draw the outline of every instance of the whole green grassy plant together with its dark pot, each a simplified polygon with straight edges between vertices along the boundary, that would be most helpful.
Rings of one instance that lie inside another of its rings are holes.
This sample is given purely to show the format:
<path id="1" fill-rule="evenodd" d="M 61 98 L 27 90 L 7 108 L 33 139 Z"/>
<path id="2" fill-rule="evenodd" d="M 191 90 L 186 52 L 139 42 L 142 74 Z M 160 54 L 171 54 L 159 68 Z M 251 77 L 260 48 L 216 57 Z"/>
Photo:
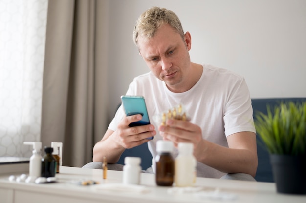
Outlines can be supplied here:
<path id="1" fill-rule="evenodd" d="M 270 154 L 277 192 L 306 194 L 306 102 L 267 106 L 255 127 Z"/>

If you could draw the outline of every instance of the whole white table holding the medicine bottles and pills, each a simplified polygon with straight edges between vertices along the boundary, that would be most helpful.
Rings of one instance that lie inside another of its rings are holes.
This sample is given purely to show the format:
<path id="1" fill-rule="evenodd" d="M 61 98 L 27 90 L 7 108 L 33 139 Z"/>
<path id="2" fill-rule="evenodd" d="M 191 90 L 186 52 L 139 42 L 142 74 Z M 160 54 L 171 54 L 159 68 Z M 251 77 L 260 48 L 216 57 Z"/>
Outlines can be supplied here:
<path id="1" fill-rule="evenodd" d="M 122 183 L 122 171 L 108 170 L 106 180 L 103 171 L 62 166 L 57 174 L 57 183 L 17 183 L 8 180 L 9 175 L 0 177 L 0 203 L 306 203 L 305 195 L 276 193 L 275 183 L 219 180 L 197 178 L 196 187 L 205 191 L 219 188 L 220 192 L 236 195 L 231 201 L 199 198 L 193 193 L 170 194 L 174 187 L 156 186 L 154 174 L 141 174 L 141 185 L 145 193 L 118 192 L 101 189 L 102 186 Z M 95 185 L 76 185 L 71 180 L 91 179 Z M 106 185 L 108 184 L 108 185 Z"/>

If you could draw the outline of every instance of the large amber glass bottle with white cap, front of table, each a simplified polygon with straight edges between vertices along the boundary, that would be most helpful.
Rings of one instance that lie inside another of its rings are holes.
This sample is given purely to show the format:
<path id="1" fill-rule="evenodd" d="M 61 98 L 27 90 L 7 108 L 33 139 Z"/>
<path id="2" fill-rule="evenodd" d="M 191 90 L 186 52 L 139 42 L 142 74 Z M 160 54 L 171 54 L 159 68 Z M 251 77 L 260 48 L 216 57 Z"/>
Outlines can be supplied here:
<path id="1" fill-rule="evenodd" d="M 155 157 L 156 184 L 172 186 L 174 180 L 174 159 L 172 157 L 173 143 L 171 141 L 157 141 Z"/>

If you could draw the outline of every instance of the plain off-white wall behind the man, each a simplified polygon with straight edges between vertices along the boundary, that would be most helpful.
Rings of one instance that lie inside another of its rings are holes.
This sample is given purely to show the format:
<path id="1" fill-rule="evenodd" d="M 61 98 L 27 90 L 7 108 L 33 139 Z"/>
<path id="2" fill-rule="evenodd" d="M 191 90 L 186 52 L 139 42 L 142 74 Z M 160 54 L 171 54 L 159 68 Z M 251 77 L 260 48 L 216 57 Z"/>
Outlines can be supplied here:
<path id="1" fill-rule="evenodd" d="M 149 71 L 132 41 L 138 16 L 173 10 L 192 36 L 191 60 L 242 75 L 252 98 L 306 97 L 306 0 L 109 0 L 109 116 Z"/>

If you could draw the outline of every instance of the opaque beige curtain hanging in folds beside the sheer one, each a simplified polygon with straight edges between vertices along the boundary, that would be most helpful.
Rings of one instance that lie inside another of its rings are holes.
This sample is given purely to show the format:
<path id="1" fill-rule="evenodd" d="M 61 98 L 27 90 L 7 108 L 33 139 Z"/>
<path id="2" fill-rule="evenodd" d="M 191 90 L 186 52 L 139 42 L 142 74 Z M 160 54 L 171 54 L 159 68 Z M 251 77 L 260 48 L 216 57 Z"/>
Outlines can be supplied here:
<path id="1" fill-rule="evenodd" d="M 63 142 L 63 165 L 92 161 L 107 129 L 107 0 L 49 0 L 41 141 Z"/>

